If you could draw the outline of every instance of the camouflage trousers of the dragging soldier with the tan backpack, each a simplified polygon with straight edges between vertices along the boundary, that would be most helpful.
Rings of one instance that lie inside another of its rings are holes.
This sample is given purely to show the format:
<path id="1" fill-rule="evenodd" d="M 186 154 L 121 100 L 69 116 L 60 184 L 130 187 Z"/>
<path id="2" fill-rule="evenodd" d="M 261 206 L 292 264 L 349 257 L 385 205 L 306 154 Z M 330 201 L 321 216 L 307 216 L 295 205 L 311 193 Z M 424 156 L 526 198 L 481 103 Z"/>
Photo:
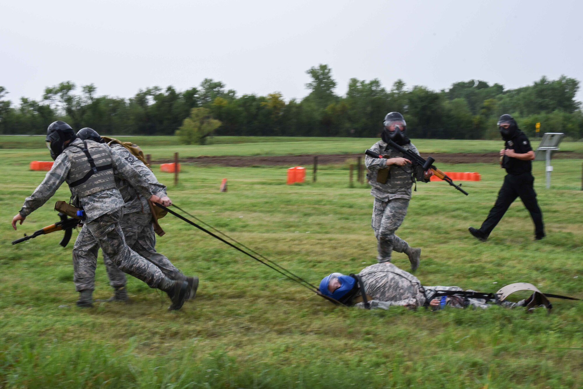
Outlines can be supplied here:
<path id="1" fill-rule="evenodd" d="M 120 221 L 120 227 L 129 248 L 159 267 L 168 277 L 174 280 L 186 280 L 186 276 L 180 273 L 180 270 L 175 268 L 167 257 L 156 252 L 156 234 L 152 225 L 152 214 L 141 212 L 125 214 Z M 126 281 L 125 273 L 115 266 L 106 253 L 103 254 L 103 263 L 106 265 L 110 285 L 114 288 L 123 287 Z"/>

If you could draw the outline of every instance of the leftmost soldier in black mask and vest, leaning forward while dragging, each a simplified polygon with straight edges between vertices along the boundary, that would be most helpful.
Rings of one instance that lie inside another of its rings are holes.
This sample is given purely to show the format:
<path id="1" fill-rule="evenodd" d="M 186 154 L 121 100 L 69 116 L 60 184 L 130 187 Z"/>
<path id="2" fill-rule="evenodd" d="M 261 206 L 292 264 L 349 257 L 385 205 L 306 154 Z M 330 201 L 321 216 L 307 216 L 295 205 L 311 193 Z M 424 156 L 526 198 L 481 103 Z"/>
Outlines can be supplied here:
<path id="1" fill-rule="evenodd" d="M 65 122 L 51 123 L 46 141 L 55 162 L 43 182 L 26 198 L 19 213 L 12 218 L 12 227 L 16 229 L 16 222 L 22 224 L 27 215 L 41 207 L 66 182 L 71 189 L 72 204 L 85 212 L 85 234 L 92 235 L 103 252 L 122 271 L 146 282 L 150 288 L 165 291 L 172 300 L 169 309 L 180 309 L 194 279 L 177 281 L 168 277 L 125 244 L 119 224 L 124 200 L 115 188 L 113 169 L 131 182 L 143 197 L 162 203 L 160 197 L 150 192 L 142 176 L 124 158 L 105 145 L 83 142 Z M 78 245 L 82 239 L 83 235 L 79 234 L 75 244 Z M 95 264 L 89 266 L 94 267 Z M 90 305 L 91 292 L 81 291 L 79 306 Z"/>

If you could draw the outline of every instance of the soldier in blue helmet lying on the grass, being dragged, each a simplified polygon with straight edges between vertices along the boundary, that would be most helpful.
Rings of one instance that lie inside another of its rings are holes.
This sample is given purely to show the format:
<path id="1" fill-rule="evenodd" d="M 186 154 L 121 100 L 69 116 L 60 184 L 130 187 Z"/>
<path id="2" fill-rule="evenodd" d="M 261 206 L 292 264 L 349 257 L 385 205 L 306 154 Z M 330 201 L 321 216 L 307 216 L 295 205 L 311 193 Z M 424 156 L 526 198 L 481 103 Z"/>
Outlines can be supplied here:
<path id="1" fill-rule="evenodd" d="M 371 308 L 389 309 L 390 306 L 420 307 L 440 305 L 440 299 L 432 299 L 436 290 L 463 291 L 459 287 L 424 287 L 415 275 L 407 273 L 390 262 L 376 263 L 365 267 L 357 274 L 364 285 L 367 302 Z M 322 295 L 334 298 L 359 308 L 364 308 L 359 283 L 350 275 L 332 273 L 322 279 L 319 285 Z M 344 297 L 349 297 L 347 300 Z M 524 300 L 518 303 L 503 302 L 505 307 L 524 305 Z M 445 305 L 456 308 L 473 306 L 487 308 L 489 305 L 484 299 L 468 298 L 461 295 L 452 295 L 445 298 Z"/>

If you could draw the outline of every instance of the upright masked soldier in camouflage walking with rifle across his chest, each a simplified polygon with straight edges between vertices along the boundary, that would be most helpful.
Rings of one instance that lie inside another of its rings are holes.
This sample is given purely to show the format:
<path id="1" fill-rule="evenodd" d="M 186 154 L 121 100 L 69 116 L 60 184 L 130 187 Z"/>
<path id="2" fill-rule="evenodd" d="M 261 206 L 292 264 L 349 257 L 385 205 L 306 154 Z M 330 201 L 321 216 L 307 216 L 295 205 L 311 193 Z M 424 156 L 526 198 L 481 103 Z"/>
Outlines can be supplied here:
<path id="1" fill-rule="evenodd" d="M 370 191 L 374 196 L 371 227 L 377 238 L 377 260 L 380 263 L 391 261 L 393 251 L 405 253 L 409 257 L 412 270 L 416 270 L 421 249 L 410 247 L 395 232 L 405 220 L 413 183 L 429 182 L 432 174 L 431 171 L 424 172 L 417 165 L 413 166 L 411 161 L 388 145 L 390 139 L 419 154 L 415 145 L 404 134 L 406 123 L 403 116 L 398 112 L 390 112 L 385 116 L 384 125 L 382 140 L 373 144 L 370 150 L 390 158 L 372 158 L 366 155 L 364 160 L 369 171 L 368 183 L 373 187 Z"/>

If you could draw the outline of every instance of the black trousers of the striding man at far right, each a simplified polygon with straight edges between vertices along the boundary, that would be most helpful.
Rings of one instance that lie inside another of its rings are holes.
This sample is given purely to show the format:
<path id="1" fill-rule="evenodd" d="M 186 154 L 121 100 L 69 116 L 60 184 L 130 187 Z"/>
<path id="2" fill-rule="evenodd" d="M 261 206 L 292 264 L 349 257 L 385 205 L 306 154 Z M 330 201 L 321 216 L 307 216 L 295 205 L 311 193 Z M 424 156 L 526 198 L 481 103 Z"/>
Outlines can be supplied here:
<path id="1" fill-rule="evenodd" d="M 535 235 L 545 235 L 545 225 L 543 225 L 543 214 L 539 204 L 536 202 L 536 192 L 533 188 L 535 178 L 531 173 L 519 175 L 507 174 L 494 207 L 490 210 L 488 217 L 482 223 L 480 231 L 489 236 L 500 219 L 504 216 L 508 207 L 517 197 L 520 197 L 526 209 L 531 213 L 532 221 L 535 222 Z"/>

